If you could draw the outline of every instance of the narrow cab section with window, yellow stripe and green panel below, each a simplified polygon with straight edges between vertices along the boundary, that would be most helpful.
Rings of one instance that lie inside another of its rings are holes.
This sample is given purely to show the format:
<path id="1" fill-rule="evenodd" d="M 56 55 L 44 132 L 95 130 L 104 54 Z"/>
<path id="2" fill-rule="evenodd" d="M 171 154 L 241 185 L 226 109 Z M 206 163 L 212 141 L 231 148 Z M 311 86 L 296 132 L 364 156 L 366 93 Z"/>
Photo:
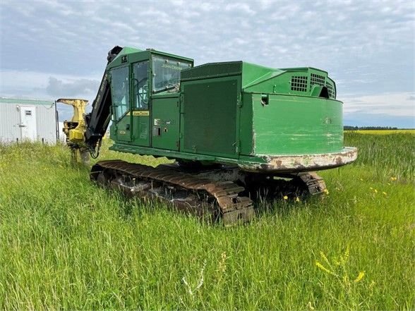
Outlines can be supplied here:
<path id="1" fill-rule="evenodd" d="M 133 106 L 131 111 L 134 145 L 150 147 L 150 92 L 148 61 L 133 63 Z"/>

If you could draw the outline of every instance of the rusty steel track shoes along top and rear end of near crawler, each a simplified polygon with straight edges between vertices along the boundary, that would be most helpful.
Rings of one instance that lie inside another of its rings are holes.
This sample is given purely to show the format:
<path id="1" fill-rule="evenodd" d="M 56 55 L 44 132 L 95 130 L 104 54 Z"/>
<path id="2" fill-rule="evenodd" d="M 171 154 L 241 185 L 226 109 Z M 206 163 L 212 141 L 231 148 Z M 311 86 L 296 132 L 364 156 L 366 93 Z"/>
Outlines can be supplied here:
<path id="1" fill-rule="evenodd" d="M 211 197 L 215 197 L 222 214 L 225 226 L 248 222 L 255 216 L 253 202 L 249 197 L 240 197 L 245 188 L 232 181 L 210 181 L 207 178 L 192 176 L 164 167 L 152 167 L 143 164 L 133 164 L 122 160 L 99 161 L 92 167 L 91 179 L 96 179 L 96 173 L 102 169 L 112 169 L 126 173 L 133 178 L 145 178 L 149 181 L 176 185 L 180 188 L 193 190 L 194 193 L 204 190 Z"/>

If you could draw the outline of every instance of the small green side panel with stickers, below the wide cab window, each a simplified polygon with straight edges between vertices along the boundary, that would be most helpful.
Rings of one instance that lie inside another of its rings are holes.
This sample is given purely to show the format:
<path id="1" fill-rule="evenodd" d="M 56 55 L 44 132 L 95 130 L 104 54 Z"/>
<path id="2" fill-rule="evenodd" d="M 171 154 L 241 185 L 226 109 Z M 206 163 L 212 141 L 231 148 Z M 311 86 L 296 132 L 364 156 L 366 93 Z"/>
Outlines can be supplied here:
<path id="1" fill-rule="evenodd" d="M 152 147 L 179 150 L 179 96 L 152 100 Z"/>

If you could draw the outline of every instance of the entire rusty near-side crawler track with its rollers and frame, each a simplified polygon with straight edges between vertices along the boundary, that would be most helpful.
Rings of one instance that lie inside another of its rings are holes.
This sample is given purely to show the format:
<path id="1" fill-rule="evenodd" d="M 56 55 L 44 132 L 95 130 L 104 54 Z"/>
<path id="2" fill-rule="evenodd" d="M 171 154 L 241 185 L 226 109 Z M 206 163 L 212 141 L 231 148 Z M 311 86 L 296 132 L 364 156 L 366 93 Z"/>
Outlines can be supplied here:
<path id="1" fill-rule="evenodd" d="M 211 181 L 169 169 L 121 160 L 99 161 L 92 166 L 90 178 L 128 195 L 158 197 L 198 216 L 222 218 L 224 226 L 251 221 L 253 202 L 239 193 L 245 188 L 232 181 Z"/>

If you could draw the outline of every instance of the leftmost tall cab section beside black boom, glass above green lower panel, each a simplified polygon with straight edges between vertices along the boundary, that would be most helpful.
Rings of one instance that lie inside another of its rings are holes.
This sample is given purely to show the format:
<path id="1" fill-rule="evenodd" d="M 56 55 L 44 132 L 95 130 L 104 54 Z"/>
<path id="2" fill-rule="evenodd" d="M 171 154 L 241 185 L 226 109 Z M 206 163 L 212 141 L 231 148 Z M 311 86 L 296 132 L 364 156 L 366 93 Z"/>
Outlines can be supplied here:
<path id="1" fill-rule="evenodd" d="M 129 66 L 111 71 L 112 109 L 116 140 L 131 142 L 130 75 Z"/>

